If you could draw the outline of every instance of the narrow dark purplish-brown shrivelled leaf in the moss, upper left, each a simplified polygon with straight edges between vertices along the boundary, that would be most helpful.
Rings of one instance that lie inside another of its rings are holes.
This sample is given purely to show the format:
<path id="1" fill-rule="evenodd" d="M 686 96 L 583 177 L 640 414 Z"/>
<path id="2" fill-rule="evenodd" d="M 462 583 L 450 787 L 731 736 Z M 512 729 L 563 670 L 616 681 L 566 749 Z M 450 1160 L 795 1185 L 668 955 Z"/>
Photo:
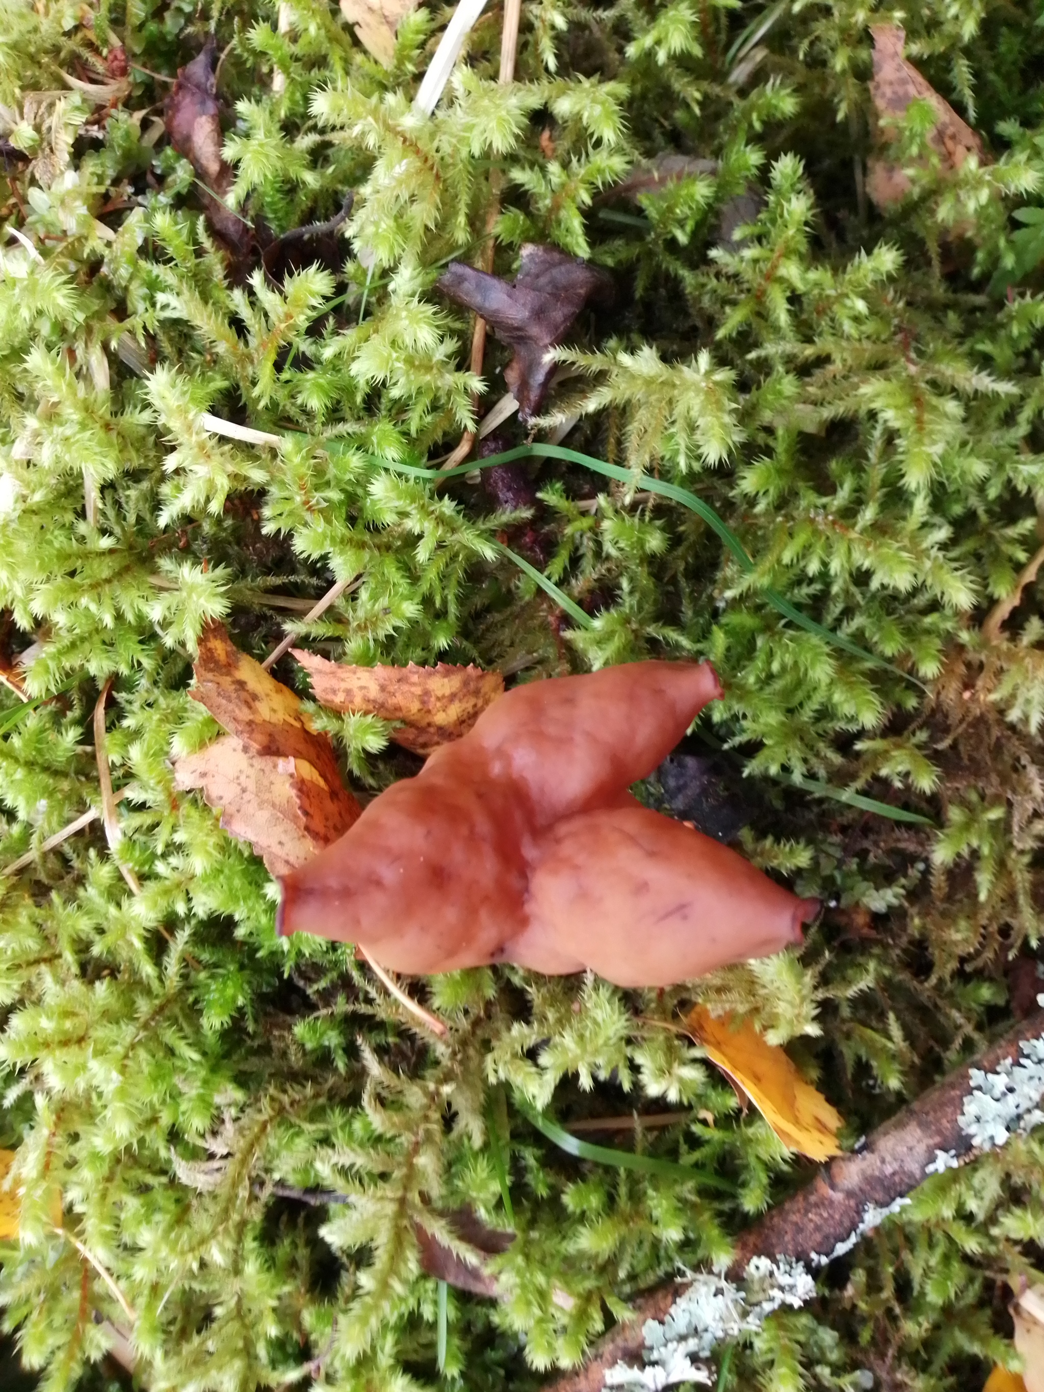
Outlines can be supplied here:
<path id="1" fill-rule="evenodd" d="M 216 90 L 216 45 L 207 39 L 199 54 L 184 68 L 167 97 L 164 124 L 170 143 L 184 155 L 203 185 L 200 198 L 212 230 L 237 256 L 245 256 L 253 231 L 238 213 L 226 206 L 232 187 L 232 170 L 221 156 L 221 106 Z"/>

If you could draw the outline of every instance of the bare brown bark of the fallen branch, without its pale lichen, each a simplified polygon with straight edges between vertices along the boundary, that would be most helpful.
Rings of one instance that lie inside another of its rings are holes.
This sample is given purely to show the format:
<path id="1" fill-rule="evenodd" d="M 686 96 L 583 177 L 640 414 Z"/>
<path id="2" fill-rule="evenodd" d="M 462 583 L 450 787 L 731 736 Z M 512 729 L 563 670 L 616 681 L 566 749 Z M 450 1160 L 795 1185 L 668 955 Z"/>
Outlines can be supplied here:
<path id="1" fill-rule="evenodd" d="M 980 1058 L 955 1069 L 870 1134 L 862 1150 L 838 1155 L 793 1197 L 771 1210 L 738 1243 L 729 1276 L 741 1279 L 752 1257 L 810 1260 L 831 1253 L 860 1226 L 867 1205 L 887 1208 L 916 1189 L 937 1151 L 972 1160 L 977 1151 L 960 1129 L 965 1098 L 972 1091 L 970 1069 L 994 1073 L 1019 1058 L 1019 1045 L 1044 1036 L 1044 1011 L 1020 1020 Z M 607 1371 L 617 1363 L 642 1363 L 643 1325 L 661 1321 L 686 1289 L 668 1281 L 632 1303 L 631 1318 L 601 1339 L 589 1361 L 548 1384 L 544 1392 L 601 1392 Z"/>

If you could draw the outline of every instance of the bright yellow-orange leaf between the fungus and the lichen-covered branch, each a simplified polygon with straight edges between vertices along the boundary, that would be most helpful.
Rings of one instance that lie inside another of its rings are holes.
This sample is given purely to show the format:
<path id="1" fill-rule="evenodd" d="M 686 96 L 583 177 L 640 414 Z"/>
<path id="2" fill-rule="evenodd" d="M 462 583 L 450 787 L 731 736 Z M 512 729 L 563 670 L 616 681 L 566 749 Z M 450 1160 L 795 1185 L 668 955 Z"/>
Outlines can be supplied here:
<path id="1" fill-rule="evenodd" d="M 805 1082 L 786 1052 L 766 1043 L 749 1020 L 736 1025 L 731 1015 L 715 1019 L 697 1005 L 685 1023 L 707 1058 L 743 1089 L 784 1146 L 812 1160 L 841 1154 L 837 1133 L 842 1118 Z"/>

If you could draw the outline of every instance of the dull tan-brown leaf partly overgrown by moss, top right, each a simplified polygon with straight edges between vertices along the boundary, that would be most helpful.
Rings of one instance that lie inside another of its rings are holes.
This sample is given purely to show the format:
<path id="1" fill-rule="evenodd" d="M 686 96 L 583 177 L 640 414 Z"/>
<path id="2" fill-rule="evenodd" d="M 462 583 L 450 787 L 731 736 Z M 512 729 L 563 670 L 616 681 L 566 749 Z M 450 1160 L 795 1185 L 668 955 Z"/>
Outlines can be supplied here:
<path id="1" fill-rule="evenodd" d="M 983 159 L 983 142 L 976 132 L 956 114 L 920 72 L 903 58 L 906 33 L 898 24 L 877 24 L 870 32 L 874 36 L 874 77 L 870 84 L 877 120 L 883 134 L 888 135 L 906 113 L 912 102 L 928 100 L 935 109 L 935 129 L 928 143 L 940 156 L 942 167 L 959 170 L 969 155 Z M 887 160 L 870 160 L 867 167 L 867 192 L 878 207 L 898 203 L 910 191 L 910 178 L 896 164 Z"/>

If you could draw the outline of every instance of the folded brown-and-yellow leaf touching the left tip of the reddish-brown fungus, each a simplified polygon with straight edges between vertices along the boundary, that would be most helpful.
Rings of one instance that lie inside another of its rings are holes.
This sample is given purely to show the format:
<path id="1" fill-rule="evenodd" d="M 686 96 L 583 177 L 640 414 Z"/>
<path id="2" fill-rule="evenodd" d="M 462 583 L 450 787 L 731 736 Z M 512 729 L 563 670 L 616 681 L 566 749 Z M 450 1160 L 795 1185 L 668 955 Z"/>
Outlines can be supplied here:
<path id="1" fill-rule="evenodd" d="M 175 763 L 175 786 L 199 788 L 221 825 L 285 874 L 337 841 L 359 816 L 333 745 L 301 702 L 241 653 L 220 624 L 199 639 L 189 695 L 230 734 Z"/>

